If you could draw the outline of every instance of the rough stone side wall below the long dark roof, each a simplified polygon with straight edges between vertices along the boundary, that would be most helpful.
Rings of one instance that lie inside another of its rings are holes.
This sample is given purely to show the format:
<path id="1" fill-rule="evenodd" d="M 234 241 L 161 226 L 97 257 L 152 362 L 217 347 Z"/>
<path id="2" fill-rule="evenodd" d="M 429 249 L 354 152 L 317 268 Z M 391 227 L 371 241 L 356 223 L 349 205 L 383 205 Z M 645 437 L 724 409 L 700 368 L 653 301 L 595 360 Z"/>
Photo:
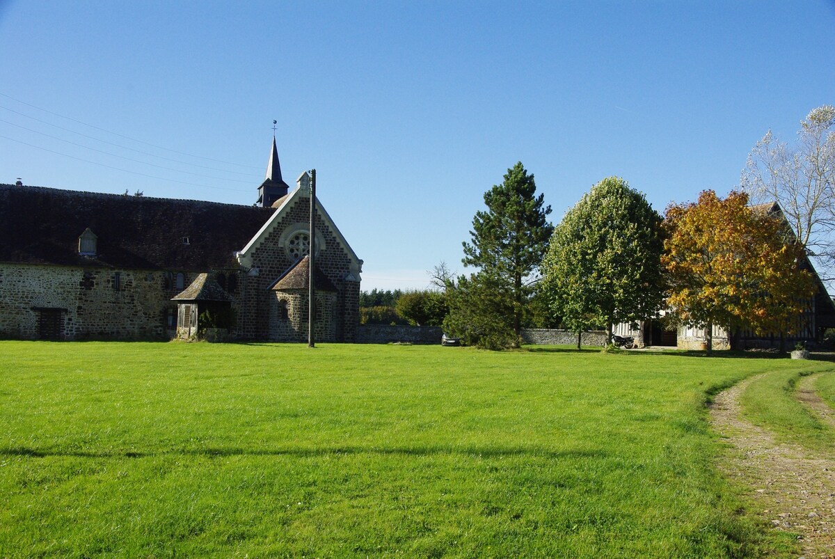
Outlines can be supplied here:
<path id="1" fill-rule="evenodd" d="M 41 314 L 58 309 L 59 339 L 166 339 L 175 295 L 168 272 L 0 264 L 0 337 L 41 338 Z"/>

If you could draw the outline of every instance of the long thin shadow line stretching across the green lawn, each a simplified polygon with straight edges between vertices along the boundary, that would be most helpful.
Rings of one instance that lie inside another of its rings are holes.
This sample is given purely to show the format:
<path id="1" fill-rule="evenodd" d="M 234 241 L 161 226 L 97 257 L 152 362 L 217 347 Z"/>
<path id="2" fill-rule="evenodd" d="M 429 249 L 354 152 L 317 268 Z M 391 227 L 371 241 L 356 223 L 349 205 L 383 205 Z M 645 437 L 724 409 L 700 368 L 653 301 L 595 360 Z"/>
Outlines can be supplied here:
<path id="1" fill-rule="evenodd" d="M 566 458 L 605 458 L 608 453 L 603 450 L 537 450 L 537 449 L 449 449 L 433 447 L 379 449 L 359 446 L 337 446 L 333 448 L 315 449 L 241 449 L 241 448 L 206 448 L 162 450 L 159 452 L 137 452 L 133 450 L 121 452 L 87 452 L 38 450 L 25 446 L 0 449 L 0 455 L 29 456 L 32 458 L 71 457 L 71 458 L 155 458 L 159 456 L 192 455 L 192 456 L 291 456 L 309 458 L 316 456 L 339 455 L 396 455 L 396 456 L 471 456 L 478 458 L 500 458 L 507 456 L 540 456 L 549 460 Z"/>

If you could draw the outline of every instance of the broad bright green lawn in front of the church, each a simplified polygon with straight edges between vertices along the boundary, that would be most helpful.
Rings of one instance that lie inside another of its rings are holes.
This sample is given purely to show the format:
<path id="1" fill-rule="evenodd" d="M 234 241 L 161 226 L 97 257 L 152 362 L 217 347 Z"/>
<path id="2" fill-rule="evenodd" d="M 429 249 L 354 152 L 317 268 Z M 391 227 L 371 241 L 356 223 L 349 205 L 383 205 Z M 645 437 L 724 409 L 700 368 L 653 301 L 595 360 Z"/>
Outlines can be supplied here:
<path id="1" fill-rule="evenodd" d="M 760 556 L 704 403 L 828 368 L 0 342 L 0 556 Z"/>

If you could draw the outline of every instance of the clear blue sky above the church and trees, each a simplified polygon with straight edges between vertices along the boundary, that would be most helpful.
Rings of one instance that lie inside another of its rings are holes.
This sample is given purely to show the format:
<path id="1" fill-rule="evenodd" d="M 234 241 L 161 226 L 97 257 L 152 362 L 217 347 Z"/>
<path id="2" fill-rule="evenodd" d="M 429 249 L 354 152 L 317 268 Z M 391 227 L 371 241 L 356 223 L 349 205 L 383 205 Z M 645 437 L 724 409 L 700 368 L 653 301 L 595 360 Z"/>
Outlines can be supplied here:
<path id="1" fill-rule="evenodd" d="M 609 175 L 724 195 L 835 104 L 832 37 L 833 0 L 0 0 L 0 182 L 252 204 L 276 119 L 362 288 L 423 288 L 518 160 L 554 223 Z"/>

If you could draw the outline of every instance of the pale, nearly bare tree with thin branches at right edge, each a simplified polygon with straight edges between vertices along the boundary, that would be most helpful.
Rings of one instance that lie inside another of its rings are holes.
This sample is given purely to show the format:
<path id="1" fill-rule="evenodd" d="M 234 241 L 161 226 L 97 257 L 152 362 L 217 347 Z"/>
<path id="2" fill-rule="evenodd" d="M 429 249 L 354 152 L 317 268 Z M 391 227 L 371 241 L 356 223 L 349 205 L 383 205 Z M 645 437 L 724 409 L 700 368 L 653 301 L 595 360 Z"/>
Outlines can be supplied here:
<path id="1" fill-rule="evenodd" d="M 792 241 L 832 269 L 835 257 L 835 107 L 813 109 L 800 123 L 797 145 L 768 130 L 748 155 L 740 185 L 757 202 L 776 201 L 792 226 Z"/>

